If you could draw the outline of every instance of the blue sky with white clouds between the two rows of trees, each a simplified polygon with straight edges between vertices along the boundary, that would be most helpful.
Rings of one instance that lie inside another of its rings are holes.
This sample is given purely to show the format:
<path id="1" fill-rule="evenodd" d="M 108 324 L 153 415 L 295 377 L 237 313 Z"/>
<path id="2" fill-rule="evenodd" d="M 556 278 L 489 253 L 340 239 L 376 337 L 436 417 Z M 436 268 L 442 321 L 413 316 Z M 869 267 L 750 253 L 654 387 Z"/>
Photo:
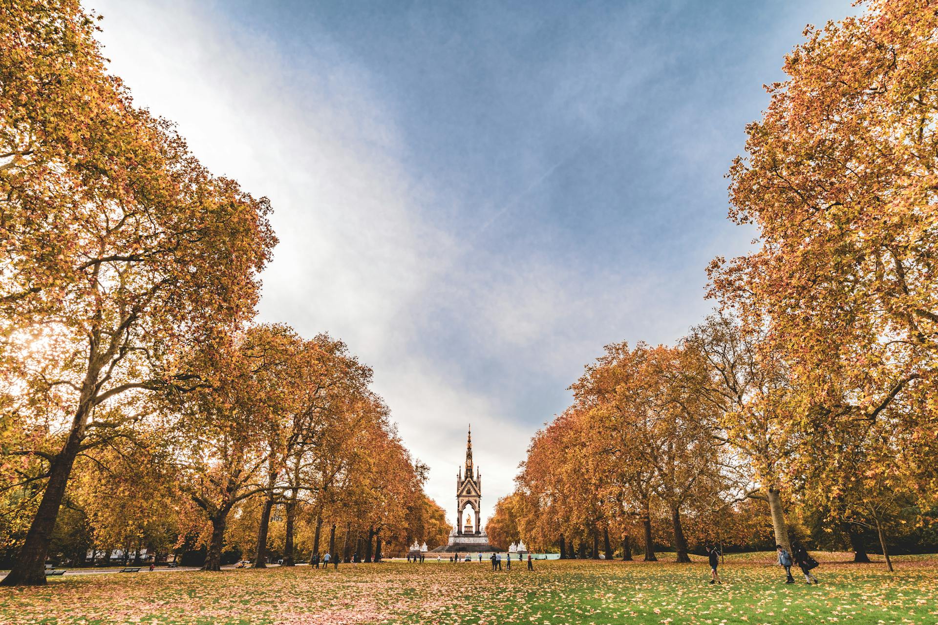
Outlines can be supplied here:
<path id="1" fill-rule="evenodd" d="M 375 370 L 453 514 L 483 516 L 613 341 L 670 343 L 753 231 L 723 174 L 762 85 L 847 1 L 89 0 L 113 72 L 203 162 L 267 195 L 262 320 Z"/>

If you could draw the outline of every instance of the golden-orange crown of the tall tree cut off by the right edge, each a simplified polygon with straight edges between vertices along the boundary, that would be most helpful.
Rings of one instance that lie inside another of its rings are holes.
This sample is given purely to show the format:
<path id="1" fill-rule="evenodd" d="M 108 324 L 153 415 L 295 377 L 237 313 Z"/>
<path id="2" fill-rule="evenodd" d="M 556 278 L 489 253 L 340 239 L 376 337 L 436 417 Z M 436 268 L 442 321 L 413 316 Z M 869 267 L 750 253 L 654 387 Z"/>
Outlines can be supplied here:
<path id="1" fill-rule="evenodd" d="M 936 26 L 930 3 L 873 0 L 805 31 L 729 173 L 730 216 L 758 228 L 758 246 L 710 266 L 712 296 L 747 326 L 768 323 L 804 413 L 849 427 L 915 405 L 892 418 L 931 500 Z"/>

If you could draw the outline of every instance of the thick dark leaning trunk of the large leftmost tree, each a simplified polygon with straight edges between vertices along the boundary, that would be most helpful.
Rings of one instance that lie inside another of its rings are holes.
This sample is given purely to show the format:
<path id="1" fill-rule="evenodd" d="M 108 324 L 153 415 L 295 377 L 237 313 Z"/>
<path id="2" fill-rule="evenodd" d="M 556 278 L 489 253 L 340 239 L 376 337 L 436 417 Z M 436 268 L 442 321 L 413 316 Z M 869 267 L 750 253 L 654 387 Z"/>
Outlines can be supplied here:
<path id="1" fill-rule="evenodd" d="M 91 397 L 98 369 L 89 369 L 85 374 L 79 408 L 71 422 L 71 432 L 62 450 L 55 454 L 49 467 L 49 481 L 42 493 L 36 516 L 26 532 L 26 539 L 17 554 L 10 572 L 0 586 L 43 586 L 46 583 L 46 558 L 49 555 L 49 541 L 52 539 L 55 519 L 58 518 L 62 498 L 68 485 L 71 468 L 82 447 L 84 427 L 91 409 Z"/>

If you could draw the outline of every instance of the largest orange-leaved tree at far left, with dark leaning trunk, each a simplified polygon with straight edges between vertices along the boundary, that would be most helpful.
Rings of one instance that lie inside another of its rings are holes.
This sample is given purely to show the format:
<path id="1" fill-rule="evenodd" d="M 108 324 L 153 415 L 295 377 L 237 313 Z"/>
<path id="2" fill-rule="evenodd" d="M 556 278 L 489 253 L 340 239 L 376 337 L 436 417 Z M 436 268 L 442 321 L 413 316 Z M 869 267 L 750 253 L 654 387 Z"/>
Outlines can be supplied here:
<path id="1" fill-rule="evenodd" d="M 267 201 L 212 176 L 171 125 L 135 109 L 104 73 L 94 30 L 69 0 L 0 13 L 0 366 L 22 391 L 4 409 L 14 439 L 42 439 L 8 454 L 44 464 L 8 586 L 45 583 L 89 434 L 143 418 L 98 411 L 200 384 L 180 351 L 250 318 L 275 243 Z"/>

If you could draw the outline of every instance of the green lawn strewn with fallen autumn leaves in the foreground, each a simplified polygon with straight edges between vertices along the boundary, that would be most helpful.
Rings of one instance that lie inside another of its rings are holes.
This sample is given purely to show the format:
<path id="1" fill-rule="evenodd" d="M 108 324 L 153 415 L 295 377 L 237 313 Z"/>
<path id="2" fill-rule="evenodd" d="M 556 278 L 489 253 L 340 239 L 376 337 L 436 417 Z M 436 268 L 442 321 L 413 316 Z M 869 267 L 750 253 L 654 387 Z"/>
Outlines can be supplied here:
<path id="1" fill-rule="evenodd" d="M 817 586 L 786 586 L 768 558 L 728 557 L 720 586 L 703 558 L 67 575 L 0 588 L 0 623 L 938 623 L 938 558 L 887 573 L 831 555 Z"/>

